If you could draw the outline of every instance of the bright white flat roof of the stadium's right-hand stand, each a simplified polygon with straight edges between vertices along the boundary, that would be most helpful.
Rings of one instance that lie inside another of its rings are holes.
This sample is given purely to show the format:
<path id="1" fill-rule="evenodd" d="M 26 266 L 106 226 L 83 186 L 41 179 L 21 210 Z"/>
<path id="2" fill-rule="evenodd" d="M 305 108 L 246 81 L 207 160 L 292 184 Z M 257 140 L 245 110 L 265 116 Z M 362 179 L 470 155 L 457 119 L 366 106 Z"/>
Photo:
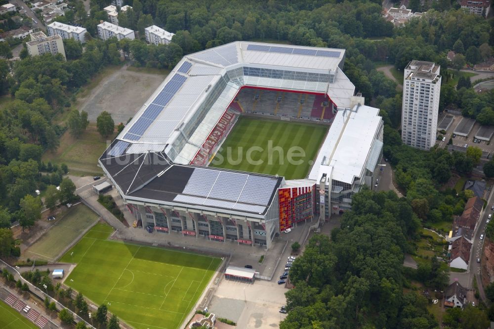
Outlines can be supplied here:
<path id="1" fill-rule="evenodd" d="M 368 163 L 375 167 L 382 150 L 382 142 L 377 139 L 381 121 L 379 109 L 370 106 L 338 111 L 309 179 L 319 180 L 323 173 L 332 171 L 332 179 L 352 184 Z"/>

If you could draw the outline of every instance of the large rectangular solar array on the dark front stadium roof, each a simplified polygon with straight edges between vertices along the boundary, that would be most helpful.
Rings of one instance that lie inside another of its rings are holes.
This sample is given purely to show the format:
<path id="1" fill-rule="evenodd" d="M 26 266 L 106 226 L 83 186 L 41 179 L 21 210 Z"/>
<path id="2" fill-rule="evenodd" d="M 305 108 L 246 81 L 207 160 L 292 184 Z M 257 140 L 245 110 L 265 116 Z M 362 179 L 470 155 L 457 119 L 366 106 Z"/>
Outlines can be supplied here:
<path id="1" fill-rule="evenodd" d="M 277 182 L 274 177 L 195 168 L 182 193 L 267 206 Z"/>

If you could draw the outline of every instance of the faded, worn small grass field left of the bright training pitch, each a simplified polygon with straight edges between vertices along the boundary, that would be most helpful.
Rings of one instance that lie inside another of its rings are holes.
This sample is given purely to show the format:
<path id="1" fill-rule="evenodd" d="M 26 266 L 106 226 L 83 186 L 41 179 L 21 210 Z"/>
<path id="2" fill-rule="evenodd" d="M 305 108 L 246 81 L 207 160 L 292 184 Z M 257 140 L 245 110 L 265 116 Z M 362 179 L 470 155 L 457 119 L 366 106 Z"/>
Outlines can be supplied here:
<path id="1" fill-rule="evenodd" d="M 55 226 L 26 250 L 26 257 L 54 261 L 65 247 L 70 245 L 89 225 L 98 219 L 96 213 L 82 204 L 72 206 L 62 216 L 57 219 L 58 222 L 55 223 Z"/>

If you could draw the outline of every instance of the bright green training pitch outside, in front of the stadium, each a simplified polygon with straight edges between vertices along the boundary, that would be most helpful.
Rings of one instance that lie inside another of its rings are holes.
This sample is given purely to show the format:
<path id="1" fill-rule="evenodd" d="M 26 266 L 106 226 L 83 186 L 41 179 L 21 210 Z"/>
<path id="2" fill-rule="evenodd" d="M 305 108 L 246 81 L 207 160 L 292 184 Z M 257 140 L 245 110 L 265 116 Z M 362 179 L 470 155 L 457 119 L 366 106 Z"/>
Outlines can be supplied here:
<path id="1" fill-rule="evenodd" d="M 62 256 L 78 263 L 65 284 L 134 328 L 178 328 L 221 259 L 107 240 L 112 231 L 98 223 Z"/>

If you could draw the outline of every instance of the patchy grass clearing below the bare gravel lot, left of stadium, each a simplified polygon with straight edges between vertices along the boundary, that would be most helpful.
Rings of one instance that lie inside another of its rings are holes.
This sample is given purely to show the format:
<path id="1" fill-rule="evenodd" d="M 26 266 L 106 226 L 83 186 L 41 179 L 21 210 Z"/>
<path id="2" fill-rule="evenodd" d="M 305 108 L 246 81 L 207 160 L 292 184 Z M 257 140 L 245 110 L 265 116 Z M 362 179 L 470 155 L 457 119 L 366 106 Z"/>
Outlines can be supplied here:
<path id="1" fill-rule="evenodd" d="M 113 140 L 113 137 L 108 137 Z M 73 175 L 100 175 L 98 159 L 107 148 L 106 138 L 101 137 L 95 124 L 89 124 L 79 138 L 74 138 L 68 131 L 60 137 L 60 146 L 55 152 L 47 151 L 42 161 L 53 164 L 65 163 Z"/>

